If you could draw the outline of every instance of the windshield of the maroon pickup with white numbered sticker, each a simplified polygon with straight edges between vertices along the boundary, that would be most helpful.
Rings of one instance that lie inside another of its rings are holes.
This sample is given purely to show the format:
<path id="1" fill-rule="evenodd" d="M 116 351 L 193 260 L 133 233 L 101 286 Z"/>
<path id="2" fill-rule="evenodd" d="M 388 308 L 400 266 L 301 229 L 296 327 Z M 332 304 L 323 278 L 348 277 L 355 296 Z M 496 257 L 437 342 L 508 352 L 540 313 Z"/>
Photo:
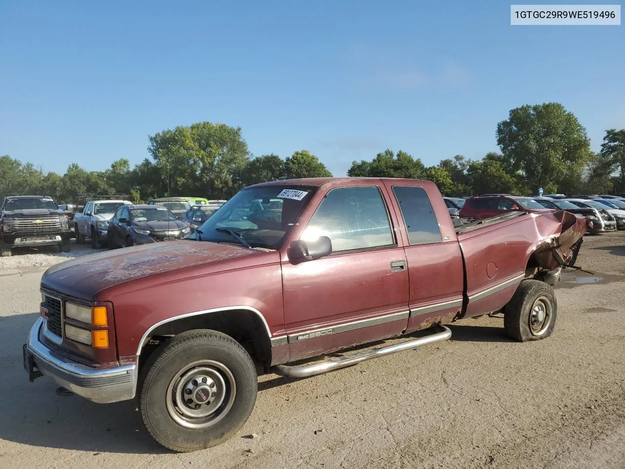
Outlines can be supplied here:
<path id="1" fill-rule="evenodd" d="M 316 188 L 264 186 L 242 189 L 191 236 L 193 240 L 241 245 L 229 229 L 252 248 L 277 249 Z"/>

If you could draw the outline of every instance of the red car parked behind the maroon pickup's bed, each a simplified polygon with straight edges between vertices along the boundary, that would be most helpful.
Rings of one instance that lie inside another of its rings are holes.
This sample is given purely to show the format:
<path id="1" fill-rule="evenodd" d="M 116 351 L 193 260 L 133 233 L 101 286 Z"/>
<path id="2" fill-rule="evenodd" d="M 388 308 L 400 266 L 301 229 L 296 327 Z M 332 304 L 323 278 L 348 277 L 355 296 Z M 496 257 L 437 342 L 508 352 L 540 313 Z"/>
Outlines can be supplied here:
<path id="1" fill-rule="evenodd" d="M 551 211 L 529 197 L 517 197 L 508 194 L 488 194 L 467 198 L 459 216 L 460 218 L 474 218 L 479 220 L 501 215 L 502 213 L 512 210 L 535 213 Z"/>

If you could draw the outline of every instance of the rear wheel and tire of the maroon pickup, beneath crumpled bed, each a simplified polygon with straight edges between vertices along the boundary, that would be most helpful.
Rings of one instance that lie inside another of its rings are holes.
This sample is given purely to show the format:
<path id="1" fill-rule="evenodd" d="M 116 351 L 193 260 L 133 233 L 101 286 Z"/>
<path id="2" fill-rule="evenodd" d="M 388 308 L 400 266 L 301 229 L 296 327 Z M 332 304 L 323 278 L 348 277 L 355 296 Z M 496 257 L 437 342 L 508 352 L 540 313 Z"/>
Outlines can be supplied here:
<path id="1" fill-rule="evenodd" d="M 504 307 L 507 335 L 519 342 L 549 337 L 556 326 L 557 301 L 551 285 L 524 280 Z"/>

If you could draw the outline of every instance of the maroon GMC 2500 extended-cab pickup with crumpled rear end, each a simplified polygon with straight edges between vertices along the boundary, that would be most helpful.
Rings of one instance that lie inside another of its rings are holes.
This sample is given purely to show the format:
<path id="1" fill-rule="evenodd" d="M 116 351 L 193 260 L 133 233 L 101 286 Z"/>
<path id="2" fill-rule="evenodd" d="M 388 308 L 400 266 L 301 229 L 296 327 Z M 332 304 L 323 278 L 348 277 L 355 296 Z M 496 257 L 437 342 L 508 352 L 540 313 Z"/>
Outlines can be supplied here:
<path id="1" fill-rule="evenodd" d="M 493 311 L 514 340 L 546 338 L 552 285 L 585 231 L 566 211 L 454 228 L 430 181 L 256 184 L 189 239 L 49 268 L 24 367 L 97 403 L 137 399 L 166 448 L 207 448 L 245 423 L 259 373 L 336 370 L 447 340 L 446 324 Z"/>

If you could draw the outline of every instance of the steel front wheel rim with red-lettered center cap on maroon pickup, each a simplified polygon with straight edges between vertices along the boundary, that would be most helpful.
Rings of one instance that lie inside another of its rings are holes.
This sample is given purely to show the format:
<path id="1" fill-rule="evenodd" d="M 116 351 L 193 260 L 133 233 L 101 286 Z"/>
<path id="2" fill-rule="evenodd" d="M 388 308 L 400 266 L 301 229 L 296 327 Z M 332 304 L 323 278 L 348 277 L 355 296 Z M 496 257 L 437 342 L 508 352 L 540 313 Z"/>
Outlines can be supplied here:
<path id="1" fill-rule="evenodd" d="M 232 408 L 235 397 L 234 375 L 214 360 L 184 366 L 169 381 L 165 396 L 169 416 L 192 430 L 216 425 Z"/>

